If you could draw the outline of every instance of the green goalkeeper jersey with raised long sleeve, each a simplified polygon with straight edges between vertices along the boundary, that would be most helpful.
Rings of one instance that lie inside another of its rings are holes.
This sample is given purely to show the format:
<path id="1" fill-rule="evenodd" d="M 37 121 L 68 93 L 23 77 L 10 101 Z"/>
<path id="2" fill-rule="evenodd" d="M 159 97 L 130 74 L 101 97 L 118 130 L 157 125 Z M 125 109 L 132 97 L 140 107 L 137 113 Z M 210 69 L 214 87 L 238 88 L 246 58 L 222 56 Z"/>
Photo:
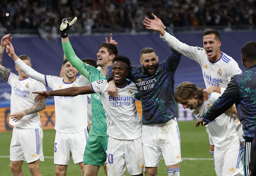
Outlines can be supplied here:
<path id="1" fill-rule="evenodd" d="M 95 67 L 91 67 L 90 65 L 83 63 L 83 61 L 75 55 L 70 41 L 64 43 L 62 42 L 62 47 L 70 64 L 72 64 L 80 72 L 80 74 L 84 75 L 90 81 L 90 83 L 97 80 L 106 80 L 106 76 L 103 76 L 101 71 Z M 105 111 L 101 102 L 101 96 L 98 93 L 91 94 L 91 113 L 92 122 L 90 134 L 94 136 L 108 137 L 106 134 L 107 124 Z"/>

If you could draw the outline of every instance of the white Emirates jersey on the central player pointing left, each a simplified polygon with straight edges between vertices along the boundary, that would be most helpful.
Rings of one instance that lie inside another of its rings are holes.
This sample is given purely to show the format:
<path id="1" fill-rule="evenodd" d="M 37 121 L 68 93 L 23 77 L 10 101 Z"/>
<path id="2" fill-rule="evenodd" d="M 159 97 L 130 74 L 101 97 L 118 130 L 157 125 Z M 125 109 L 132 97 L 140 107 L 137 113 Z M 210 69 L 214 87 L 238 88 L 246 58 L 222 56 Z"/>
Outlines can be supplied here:
<path id="1" fill-rule="evenodd" d="M 141 118 L 136 110 L 136 85 L 131 82 L 123 87 L 117 86 L 118 97 L 108 94 L 109 83 L 98 80 L 91 83 L 91 90 L 100 93 L 108 125 L 107 134 L 111 138 L 133 140 L 141 136 Z"/>

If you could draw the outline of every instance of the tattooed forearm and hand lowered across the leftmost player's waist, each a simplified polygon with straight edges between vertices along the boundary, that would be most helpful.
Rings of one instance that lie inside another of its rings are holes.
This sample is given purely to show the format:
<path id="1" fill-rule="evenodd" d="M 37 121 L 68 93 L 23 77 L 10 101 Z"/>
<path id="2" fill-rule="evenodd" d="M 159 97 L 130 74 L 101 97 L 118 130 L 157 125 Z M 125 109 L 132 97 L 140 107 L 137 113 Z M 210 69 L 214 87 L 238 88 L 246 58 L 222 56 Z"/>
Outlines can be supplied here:
<path id="1" fill-rule="evenodd" d="M 10 117 L 13 121 L 17 122 L 18 120 L 22 119 L 23 116 L 33 114 L 33 113 L 39 112 L 41 110 L 44 110 L 45 107 L 46 107 L 45 100 L 42 100 L 41 102 L 38 102 L 37 104 L 35 104 L 31 108 L 28 108 L 28 109 L 23 110 L 23 111 L 15 112 L 14 114 L 10 115 Z"/>

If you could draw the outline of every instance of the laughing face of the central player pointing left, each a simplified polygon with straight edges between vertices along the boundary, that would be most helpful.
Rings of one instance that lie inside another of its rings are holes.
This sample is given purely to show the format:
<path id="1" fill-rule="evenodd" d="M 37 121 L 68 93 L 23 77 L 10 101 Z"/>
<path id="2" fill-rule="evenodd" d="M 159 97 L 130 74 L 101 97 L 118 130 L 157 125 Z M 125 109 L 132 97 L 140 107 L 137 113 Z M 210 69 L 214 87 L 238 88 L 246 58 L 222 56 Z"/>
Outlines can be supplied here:
<path id="1" fill-rule="evenodd" d="M 126 84 L 126 77 L 128 75 L 127 65 L 122 61 L 115 61 L 112 67 L 112 76 L 117 86 L 124 86 Z"/>

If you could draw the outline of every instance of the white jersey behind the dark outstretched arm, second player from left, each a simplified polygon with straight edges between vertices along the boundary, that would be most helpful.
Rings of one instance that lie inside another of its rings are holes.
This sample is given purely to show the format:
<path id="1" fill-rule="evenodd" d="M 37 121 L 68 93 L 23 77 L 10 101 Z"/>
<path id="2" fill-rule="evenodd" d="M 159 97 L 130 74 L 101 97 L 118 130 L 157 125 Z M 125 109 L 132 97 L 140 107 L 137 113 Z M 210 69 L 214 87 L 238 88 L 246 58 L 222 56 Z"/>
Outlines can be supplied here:
<path id="1" fill-rule="evenodd" d="M 88 85 L 89 80 L 80 75 L 75 81 L 65 83 L 64 78 L 45 75 L 45 85 L 52 90 L 81 87 Z M 87 95 L 54 96 L 55 130 L 59 133 L 76 133 L 87 128 Z"/>

